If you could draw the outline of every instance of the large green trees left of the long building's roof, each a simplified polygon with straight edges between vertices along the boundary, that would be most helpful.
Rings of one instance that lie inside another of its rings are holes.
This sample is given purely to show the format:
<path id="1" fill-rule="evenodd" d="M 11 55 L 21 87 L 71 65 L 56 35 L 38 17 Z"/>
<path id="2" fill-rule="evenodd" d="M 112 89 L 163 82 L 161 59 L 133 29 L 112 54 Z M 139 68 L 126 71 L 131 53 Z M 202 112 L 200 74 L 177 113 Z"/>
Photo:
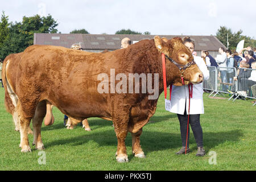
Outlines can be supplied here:
<path id="1" fill-rule="evenodd" d="M 26 17 L 23 16 L 22 22 L 6 23 L 8 16 L 2 14 L 0 26 L 7 27 L 0 31 L 0 59 L 5 59 L 10 53 L 18 53 L 24 51 L 34 42 L 34 33 L 57 33 L 57 22 L 51 15 L 40 17 L 39 15 Z M 4 26 L 5 25 L 5 26 Z M 7 31 L 8 30 L 8 31 Z M 5 36 L 9 32 L 9 36 Z M 1 44 L 2 35 L 6 39 Z"/>

